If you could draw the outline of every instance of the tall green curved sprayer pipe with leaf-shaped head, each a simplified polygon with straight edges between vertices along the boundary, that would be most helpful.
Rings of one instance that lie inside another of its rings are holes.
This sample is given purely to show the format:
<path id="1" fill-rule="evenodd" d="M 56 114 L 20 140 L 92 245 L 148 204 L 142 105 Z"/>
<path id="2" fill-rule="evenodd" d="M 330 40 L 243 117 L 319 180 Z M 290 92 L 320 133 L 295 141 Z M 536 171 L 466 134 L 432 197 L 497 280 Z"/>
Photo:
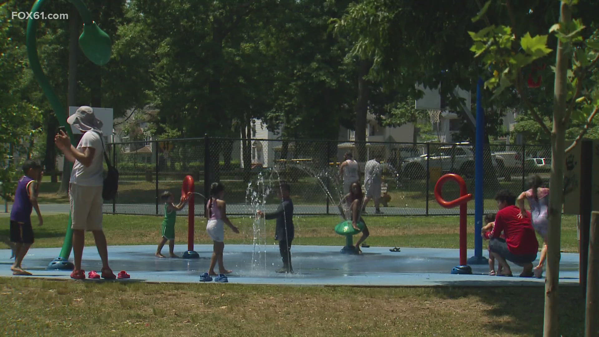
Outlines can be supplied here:
<path id="1" fill-rule="evenodd" d="M 50 0 L 38 0 L 34 3 L 33 7 L 31 7 L 31 13 L 39 13 L 42 11 L 44 5 Z M 83 19 L 83 33 L 79 37 L 79 46 L 83 51 L 84 55 L 90 59 L 93 63 L 97 65 L 104 65 L 110 60 L 111 53 L 111 41 L 110 37 L 102 31 L 92 21 L 92 16 L 87 10 L 86 5 L 81 0 L 69 0 L 71 4 L 73 4 L 81 18 Z M 66 109 L 60 103 L 58 96 L 56 96 L 55 92 L 50 86 L 50 82 L 48 81 L 44 71 L 41 69 L 40 59 L 38 58 L 37 52 L 37 40 L 35 31 L 37 29 L 37 19 L 31 17 L 27 22 L 27 55 L 29 57 L 29 67 L 34 73 L 35 79 L 40 83 L 44 94 L 50 101 L 50 105 L 52 109 L 56 113 L 56 118 L 60 125 L 66 128 L 66 132 L 71 138 L 71 143 L 74 146 L 77 146 L 75 143 L 75 139 L 72 135 L 71 127 L 66 123 Z M 47 132 L 52 132 L 52 130 L 47 130 Z M 64 170 L 71 171 L 72 163 L 68 163 L 68 165 L 64 168 Z M 62 245 L 62 249 L 60 250 L 59 257 L 64 260 L 68 260 L 69 255 L 71 254 L 72 248 L 72 230 L 71 230 L 71 214 L 69 214 L 69 222 L 66 227 L 65 241 Z"/>

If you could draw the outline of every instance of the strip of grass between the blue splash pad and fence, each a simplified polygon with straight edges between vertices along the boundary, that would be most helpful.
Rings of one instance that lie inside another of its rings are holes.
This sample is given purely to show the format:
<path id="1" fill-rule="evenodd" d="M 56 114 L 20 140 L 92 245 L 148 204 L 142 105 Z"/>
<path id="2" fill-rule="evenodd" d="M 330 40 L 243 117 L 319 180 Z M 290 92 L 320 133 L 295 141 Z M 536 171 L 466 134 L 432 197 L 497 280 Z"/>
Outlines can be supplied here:
<path id="1" fill-rule="evenodd" d="M 474 217 L 468 222 L 468 248 L 474 248 Z M 458 248 L 458 216 L 364 216 L 370 229 L 367 243 L 373 246 Z M 64 239 L 68 215 L 44 217 L 44 226 L 37 227 L 34 221 L 34 248 L 59 247 Z M 0 236 L 8 237 L 8 218 L 2 218 Z M 264 220 L 262 220 L 264 221 Z M 253 219 L 232 218 L 240 228 L 240 234 L 226 228 L 226 243 L 253 242 Z M 296 216 L 294 218 L 294 245 L 333 245 L 344 244 L 343 237 L 335 234 L 334 226 L 340 222 L 337 216 Z M 104 215 L 104 230 L 109 245 L 153 245 L 160 238 L 162 218 L 138 215 Z M 196 218 L 195 243 L 212 243 L 205 232 L 205 219 Z M 274 243 L 275 222 L 267 221 L 267 242 Z M 86 243 L 93 245 L 92 234 L 87 233 Z M 187 238 L 187 218 L 177 218 L 177 243 L 185 243 Z M 566 252 L 577 252 L 576 217 L 562 217 L 561 248 Z M 539 237 L 539 242 L 542 239 Z"/>

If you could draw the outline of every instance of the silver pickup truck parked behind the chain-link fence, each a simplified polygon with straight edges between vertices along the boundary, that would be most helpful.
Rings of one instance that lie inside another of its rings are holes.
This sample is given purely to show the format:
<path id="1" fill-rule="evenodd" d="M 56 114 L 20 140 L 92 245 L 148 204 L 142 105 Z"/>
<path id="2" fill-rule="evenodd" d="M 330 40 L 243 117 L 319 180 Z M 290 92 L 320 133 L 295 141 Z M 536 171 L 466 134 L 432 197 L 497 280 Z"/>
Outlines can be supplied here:
<path id="1" fill-rule="evenodd" d="M 458 173 L 465 178 L 474 177 L 474 152 L 471 146 L 447 145 L 432 151 L 431 154 L 423 154 L 419 157 L 407 158 L 401 164 L 403 175 L 410 179 L 425 179 L 426 161 L 428 159 L 429 169 L 441 169 L 441 173 Z M 497 173 L 509 174 L 504 167 L 504 158 L 500 155 L 491 154 L 493 167 Z"/>

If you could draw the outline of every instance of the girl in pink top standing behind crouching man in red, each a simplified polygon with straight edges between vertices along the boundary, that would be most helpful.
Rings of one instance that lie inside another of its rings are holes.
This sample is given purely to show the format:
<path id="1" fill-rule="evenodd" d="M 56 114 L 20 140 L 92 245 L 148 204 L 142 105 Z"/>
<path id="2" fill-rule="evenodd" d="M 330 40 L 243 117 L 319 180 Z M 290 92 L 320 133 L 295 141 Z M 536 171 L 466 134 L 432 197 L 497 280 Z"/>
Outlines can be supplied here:
<path id="1" fill-rule="evenodd" d="M 547 228 L 549 227 L 549 219 L 547 213 L 549 209 L 549 188 L 542 187 L 543 180 L 537 174 L 528 178 L 530 189 L 522 192 L 518 197 L 518 207 L 520 208 L 520 217 L 528 216 L 524 206 L 524 199 L 528 200 L 530 206 L 530 216 L 533 221 L 534 230 L 543 237 L 543 248 L 541 249 L 541 257 L 539 264 L 534 267 L 534 276 L 541 278 L 543 276 L 543 263 L 547 258 Z"/>

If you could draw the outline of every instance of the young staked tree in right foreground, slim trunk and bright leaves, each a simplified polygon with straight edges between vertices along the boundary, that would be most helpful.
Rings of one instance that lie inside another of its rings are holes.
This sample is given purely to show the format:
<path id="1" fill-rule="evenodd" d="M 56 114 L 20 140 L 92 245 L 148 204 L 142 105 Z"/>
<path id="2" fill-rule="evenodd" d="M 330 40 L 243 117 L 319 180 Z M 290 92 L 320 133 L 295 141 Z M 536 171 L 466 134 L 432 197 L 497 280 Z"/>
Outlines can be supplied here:
<path id="1" fill-rule="evenodd" d="M 559 335 L 557 294 L 565 153 L 585 136 L 599 110 L 599 88 L 596 79 L 589 76 L 596 74 L 597 71 L 599 36 L 597 31 L 586 28 L 582 19 L 573 19 L 572 14 L 578 3 L 577 0 L 560 2 L 559 22 L 550 28 L 547 27 L 555 36 L 555 40 L 549 40 L 549 43 L 548 35 L 533 35 L 522 29 L 521 22 L 530 22 L 525 19 L 526 11 L 522 10 L 528 8 L 529 13 L 536 12 L 531 9 L 532 4 L 525 2 L 519 2 L 518 5 L 530 7 L 521 7 L 520 11 L 516 11 L 510 1 L 506 3 L 510 25 L 490 25 L 487 21 L 488 25 L 485 28 L 470 33 L 474 41 L 471 50 L 486 66 L 496 70 L 495 76 L 487 80 L 485 85 L 495 89 L 496 93 L 514 88 L 528 107 L 526 112 L 537 121 L 543 133 L 548 134 L 551 139 L 550 186 L 552 190 L 549 199 L 544 336 Z M 578 7 L 580 16 L 584 16 L 583 13 L 597 13 L 597 6 L 591 1 L 580 4 Z M 475 19 L 485 16 L 489 8 L 492 10 L 488 13 L 492 13 L 495 8 L 502 7 L 501 3 L 488 1 Z M 550 61 L 553 54 L 555 54 L 555 62 Z M 530 92 L 530 88 L 542 84 L 540 83 L 542 75 L 538 77 L 537 74 L 531 74 L 528 80 L 525 77 L 525 71 L 530 72 L 532 67 L 534 70 L 542 71 L 543 64 L 554 64 L 551 70 L 555 72 L 550 126 L 528 100 L 530 95 L 534 95 Z M 572 121 L 582 124 L 583 127 L 579 128 L 574 142 L 567 145 L 565 135 Z"/>

